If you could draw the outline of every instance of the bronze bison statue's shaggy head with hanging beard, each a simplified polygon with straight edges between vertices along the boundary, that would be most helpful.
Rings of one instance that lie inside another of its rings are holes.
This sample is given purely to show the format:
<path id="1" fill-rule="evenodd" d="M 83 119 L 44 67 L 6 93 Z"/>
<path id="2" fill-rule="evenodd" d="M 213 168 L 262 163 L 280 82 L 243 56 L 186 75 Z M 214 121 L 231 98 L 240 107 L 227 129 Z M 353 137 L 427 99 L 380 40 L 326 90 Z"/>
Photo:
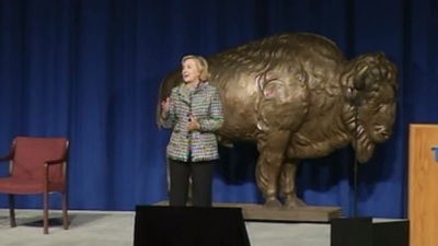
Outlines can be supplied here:
<path id="1" fill-rule="evenodd" d="M 358 161 L 369 161 L 376 143 L 392 133 L 396 105 L 396 67 L 383 54 L 367 54 L 349 62 L 342 79 L 346 86 L 346 122 Z M 356 124 L 357 122 L 357 124 Z"/>

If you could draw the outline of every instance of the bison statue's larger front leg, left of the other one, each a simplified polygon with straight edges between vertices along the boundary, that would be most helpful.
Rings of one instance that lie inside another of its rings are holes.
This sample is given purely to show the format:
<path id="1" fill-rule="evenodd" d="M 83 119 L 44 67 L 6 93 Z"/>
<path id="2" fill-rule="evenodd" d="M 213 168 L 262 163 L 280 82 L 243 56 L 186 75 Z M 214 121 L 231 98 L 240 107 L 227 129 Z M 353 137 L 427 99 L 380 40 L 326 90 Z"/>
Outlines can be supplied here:
<path id="1" fill-rule="evenodd" d="M 266 133 L 258 141 L 256 180 L 267 208 L 281 208 L 277 199 L 278 178 L 288 140 L 288 131 L 276 130 Z"/>

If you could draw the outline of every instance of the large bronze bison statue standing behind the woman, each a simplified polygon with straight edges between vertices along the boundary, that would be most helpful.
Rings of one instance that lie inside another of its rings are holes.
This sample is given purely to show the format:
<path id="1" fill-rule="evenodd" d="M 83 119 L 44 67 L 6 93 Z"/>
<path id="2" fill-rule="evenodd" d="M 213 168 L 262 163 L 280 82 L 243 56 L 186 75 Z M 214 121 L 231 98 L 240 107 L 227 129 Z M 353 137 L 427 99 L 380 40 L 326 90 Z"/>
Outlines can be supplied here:
<path id="1" fill-rule="evenodd" d="M 365 163 L 392 133 L 397 72 L 382 52 L 347 60 L 326 37 L 291 33 L 207 60 L 210 84 L 219 90 L 224 108 L 218 141 L 228 147 L 256 143 L 256 181 L 269 208 L 306 206 L 295 184 L 300 160 L 353 144 L 358 162 Z M 180 70 L 172 71 L 159 101 L 181 82 Z"/>

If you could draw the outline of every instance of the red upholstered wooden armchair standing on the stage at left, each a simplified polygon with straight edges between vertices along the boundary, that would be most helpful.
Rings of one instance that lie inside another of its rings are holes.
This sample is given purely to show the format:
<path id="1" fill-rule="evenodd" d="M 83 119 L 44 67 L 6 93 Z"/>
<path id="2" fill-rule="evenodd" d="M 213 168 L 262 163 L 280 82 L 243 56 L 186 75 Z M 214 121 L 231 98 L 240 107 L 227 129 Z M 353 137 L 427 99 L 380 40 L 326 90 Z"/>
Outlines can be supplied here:
<path id="1" fill-rule="evenodd" d="M 9 176 L 0 177 L 0 192 L 9 195 L 11 226 L 16 226 L 15 195 L 43 195 L 43 226 L 48 234 L 48 198 L 51 192 L 62 195 L 62 224 L 68 230 L 67 157 L 69 141 L 66 138 L 16 137 L 11 152 L 0 159 L 9 162 Z"/>

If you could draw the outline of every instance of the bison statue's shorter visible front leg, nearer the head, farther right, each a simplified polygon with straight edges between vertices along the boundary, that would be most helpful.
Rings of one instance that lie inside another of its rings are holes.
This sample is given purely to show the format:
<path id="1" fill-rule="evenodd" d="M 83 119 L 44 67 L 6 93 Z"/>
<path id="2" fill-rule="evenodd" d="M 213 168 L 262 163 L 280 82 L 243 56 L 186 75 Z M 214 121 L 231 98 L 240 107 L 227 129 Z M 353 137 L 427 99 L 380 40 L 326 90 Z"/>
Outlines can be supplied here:
<path id="1" fill-rule="evenodd" d="M 280 189 L 285 197 L 285 208 L 296 208 L 307 206 L 297 197 L 296 180 L 297 180 L 298 161 L 286 161 L 281 168 Z"/>

